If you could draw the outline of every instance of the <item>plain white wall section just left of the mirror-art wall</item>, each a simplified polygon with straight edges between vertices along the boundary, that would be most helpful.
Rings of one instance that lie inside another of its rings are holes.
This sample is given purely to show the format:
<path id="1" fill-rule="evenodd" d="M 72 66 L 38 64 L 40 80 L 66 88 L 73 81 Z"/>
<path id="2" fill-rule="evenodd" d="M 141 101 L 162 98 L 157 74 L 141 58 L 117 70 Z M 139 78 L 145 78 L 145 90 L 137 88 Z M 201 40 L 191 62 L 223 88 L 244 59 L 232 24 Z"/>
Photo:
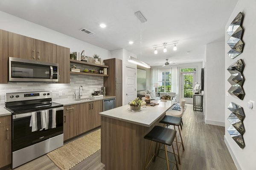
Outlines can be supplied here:
<path id="1" fill-rule="evenodd" d="M 225 42 L 206 45 L 205 67 L 205 122 L 211 125 L 225 126 Z"/>

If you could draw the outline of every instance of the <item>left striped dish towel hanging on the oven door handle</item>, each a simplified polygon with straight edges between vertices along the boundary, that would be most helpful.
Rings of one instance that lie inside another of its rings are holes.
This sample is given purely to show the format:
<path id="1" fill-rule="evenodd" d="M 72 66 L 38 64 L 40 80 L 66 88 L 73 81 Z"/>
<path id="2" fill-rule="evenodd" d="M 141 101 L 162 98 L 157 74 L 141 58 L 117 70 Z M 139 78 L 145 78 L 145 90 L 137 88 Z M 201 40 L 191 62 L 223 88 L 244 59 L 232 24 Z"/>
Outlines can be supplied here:
<path id="1" fill-rule="evenodd" d="M 45 111 L 32 112 L 30 119 L 30 127 L 32 127 L 32 132 L 37 130 L 43 130 L 46 128 Z"/>

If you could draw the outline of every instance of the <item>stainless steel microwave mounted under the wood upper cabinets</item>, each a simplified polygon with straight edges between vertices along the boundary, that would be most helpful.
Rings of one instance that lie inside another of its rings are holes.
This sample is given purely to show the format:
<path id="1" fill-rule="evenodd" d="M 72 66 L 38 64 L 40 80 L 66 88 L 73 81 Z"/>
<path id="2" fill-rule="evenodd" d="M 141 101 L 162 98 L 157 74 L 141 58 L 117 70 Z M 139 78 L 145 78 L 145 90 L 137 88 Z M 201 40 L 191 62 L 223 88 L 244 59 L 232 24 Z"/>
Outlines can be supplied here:
<path id="1" fill-rule="evenodd" d="M 58 64 L 9 57 L 9 82 L 58 82 Z"/>

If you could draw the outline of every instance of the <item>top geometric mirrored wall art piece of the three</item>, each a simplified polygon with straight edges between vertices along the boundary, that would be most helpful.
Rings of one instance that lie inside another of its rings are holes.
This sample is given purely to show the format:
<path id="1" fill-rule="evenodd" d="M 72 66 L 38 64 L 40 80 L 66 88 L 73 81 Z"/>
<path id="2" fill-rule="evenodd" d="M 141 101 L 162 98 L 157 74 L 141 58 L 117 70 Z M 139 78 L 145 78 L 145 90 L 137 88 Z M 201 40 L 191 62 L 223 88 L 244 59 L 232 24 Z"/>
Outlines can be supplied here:
<path id="1" fill-rule="evenodd" d="M 227 40 L 227 44 L 230 46 L 230 51 L 228 51 L 229 57 L 232 59 L 236 58 L 243 52 L 244 42 L 242 41 L 244 30 L 242 28 L 243 15 L 241 12 L 232 21 L 227 29 L 227 34 L 229 34 L 230 39 Z"/>

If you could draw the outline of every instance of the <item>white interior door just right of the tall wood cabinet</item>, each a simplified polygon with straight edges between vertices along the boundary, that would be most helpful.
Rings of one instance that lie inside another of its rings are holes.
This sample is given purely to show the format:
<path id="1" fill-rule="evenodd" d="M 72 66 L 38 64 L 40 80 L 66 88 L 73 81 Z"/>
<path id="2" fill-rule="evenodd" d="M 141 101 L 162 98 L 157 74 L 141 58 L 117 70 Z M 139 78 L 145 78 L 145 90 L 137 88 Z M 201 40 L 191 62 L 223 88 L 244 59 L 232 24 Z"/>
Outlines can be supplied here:
<path id="1" fill-rule="evenodd" d="M 125 67 L 125 105 L 134 100 L 137 96 L 135 83 L 135 68 Z"/>

